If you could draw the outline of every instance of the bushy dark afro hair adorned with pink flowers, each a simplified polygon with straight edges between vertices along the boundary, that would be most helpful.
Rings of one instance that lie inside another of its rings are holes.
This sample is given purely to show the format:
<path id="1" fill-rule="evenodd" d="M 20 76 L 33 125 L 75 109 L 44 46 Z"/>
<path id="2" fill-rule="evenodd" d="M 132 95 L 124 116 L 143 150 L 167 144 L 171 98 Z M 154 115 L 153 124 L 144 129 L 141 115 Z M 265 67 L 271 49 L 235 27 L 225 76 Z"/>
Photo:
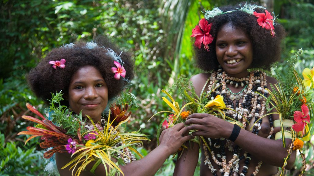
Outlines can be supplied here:
<path id="1" fill-rule="evenodd" d="M 121 50 L 116 45 L 111 43 L 109 39 L 100 36 L 95 40 L 100 47 L 92 49 L 86 48 L 86 42 L 79 41 L 73 47 L 60 47 L 53 49 L 41 62 L 30 71 L 27 75 L 27 80 L 30 88 L 35 95 L 44 101 L 48 102 L 52 98 L 51 93 L 60 92 L 62 90 L 63 96 L 68 96 L 68 88 L 72 79 L 72 75 L 81 67 L 90 65 L 94 66 L 100 71 L 102 77 L 108 86 L 108 99 L 111 100 L 117 96 L 125 87 L 126 80 L 116 80 L 111 71 L 114 65 L 114 60 L 110 54 L 106 54 L 107 49 L 112 49 L 117 54 Z M 103 48 L 105 47 L 105 48 Z M 126 70 L 125 78 L 132 80 L 133 73 L 133 60 L 131 54 L 123 51 L 120 55 L 124 62 L 123 67 Z M 57 69 L 52 68 L 49 61 L 65 59 L 65 68 Z M 68 106 L 68 101 L 62 101 L 62 105 Z"/>

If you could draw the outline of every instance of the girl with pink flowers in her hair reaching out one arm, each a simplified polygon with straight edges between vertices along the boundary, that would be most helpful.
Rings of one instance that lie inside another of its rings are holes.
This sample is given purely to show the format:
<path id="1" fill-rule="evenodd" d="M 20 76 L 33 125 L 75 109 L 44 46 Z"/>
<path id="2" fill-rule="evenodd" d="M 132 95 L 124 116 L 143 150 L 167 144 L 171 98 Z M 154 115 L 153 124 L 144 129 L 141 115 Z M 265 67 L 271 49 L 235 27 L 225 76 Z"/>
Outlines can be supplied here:
<path id="1" fill-rule="evenodd" d="M 122 52 L 107 39 L 99 38 L 96 42 L 97 44 L 94 42 L 78 42 L 53 49 L 30 71 L 28 81 L 36 96 L 43 100 L 51 100 L 51 93 L 62 91 L 64 100 L 60 102 L 61 105 L 68 106 L 76 114 L 82 111 L 83 117 L 88 115 L 95 123 L 98 122 L 96 126 L 89 125 L 89 128 L 104 129 L 106 122 L 102 117 L 102 112 L 108 105 L 108 101 L 117 96 L 124 89 L 128 80 L 133 78 L 133 61 L 130 54 Z M 27 118 L 34 120 L 34 118 Z M 43 125 L 48 124 L 48 121 L 45 119 L 43 121 L 35 120 L 34 122 L 39 122 Z M 101 126 L 99 122 L 101 122 Z M 62 129 L 53 127 L 51 124 L 46 127 L 62 132 Z M 47 134 L 57 134 L 55 132 L 47 132 L 47 128 L 31 127 L 28 129 L 36 132 L 46 131 L 44 135 L 36 133 L 37 136 L 44 136 L 45 139 L 47 139 Z M 122 156 L 127 156 L 124 158 L 125 165 L 120 165 L 124 175 L 154 175 L 166 158 L 175 153 L 183 142 L 193 138 L 192 136 L 184 136 L 183 134 L 186 134 L 186 131 L 187 129 L 184 128 L 183 123 L 165 130 L 160 137 L 160 145 L 138 161 L 134 161 L 134 155 L 130 153 L 128 148 L 124 148 L 122 153 L 120 153 Z M 25 133 L 27 132 L 21 132 L 21 134 Z M 95 133 L 95 131 L 94 133 L 89 133 L 86 137 L 95 138 Z M 61 134 L 60 136 L 64 135 Z M 60 138 L 58 140 L 57 142 L 62 142 Z M 79 140 L 82 141 L 82 139 Z M 72 153 L 79 148 L 93 146 L 90 143 L 88 144 L 88 142 L 86 142 L 85 146 L 82 146 L 79 144 L 79 140 L 69 138 L 68 144 L 60 145 L 62 149 L 56 152 L 57 168 L 60 175 L 72 175 L 73 168 L 70 170 L 69 167 L 61 169 L 75 157 L 72 156 L 71 158 Z M 78 163 L 78 166 L 80 164 L 82 163 Z M 87 165 L 79 175 L 94 175 L 89 172 L 93 164 L 95 162 Z M 76 169 L 74 169 L 73 173 L 76 172 Z M 95 170 L 95 175 L 105 175 L 106 173 L 107 170 L 102 164 Z"/>

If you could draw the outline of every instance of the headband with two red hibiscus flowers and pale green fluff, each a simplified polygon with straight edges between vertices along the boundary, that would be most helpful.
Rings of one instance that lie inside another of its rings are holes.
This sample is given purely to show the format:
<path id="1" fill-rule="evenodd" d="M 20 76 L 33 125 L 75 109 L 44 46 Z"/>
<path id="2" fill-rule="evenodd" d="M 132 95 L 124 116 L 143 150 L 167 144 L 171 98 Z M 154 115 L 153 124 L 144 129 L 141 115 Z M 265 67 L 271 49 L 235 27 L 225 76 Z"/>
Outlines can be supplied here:
<path id="1" fill-rule="evenodd" d="M 273 17 L 267 10 L 265 10 L 265 13 L 255 12 L 256 8 L 262 8 L 262 9 L 266 9 L 266 8 L 264 8 L 262 6 L 257 6 L 255 4 L 251 5 L 250 3 L 245 3 L 243 7 L 241 4 L 239 4 L 239 6 L 241 8 L 236 8 L 236 9 L 243 11 L 245 13 L 248 13 L 248 14 L 254 14 L 255 17 L 257 17 L 258 25 L 260 25 L 262 28 L 265 28 L 266 30 L 270 30 L 272 37 L 275 36 L 275 32 L 274 32 L 275 23 L 274 23 L 274 21 L 275 21 L 276 17 L 275 16 Z M 203 43 L 204 48 L 207 51 L 209 51 L 208 50 L 208 44 L 211 44 L 213 42 L 214 37 L 211 34 L 209 34 L 212 23 L 208 24 L 207 20 L 209 18 L 214 18 L 215 16 L 225 14 L 225 13 L 231 13 L 234 11 L 236 11 L 236 10 L 230 10 L 230 11 L 223 12 L 219 8 L 213 8 L 212 10 L 206 11 L 204 18 L 199 21 L 198 25 L 194 29 L 192 29 L 191 37 L 195 37 L 194 45 L 200 49 L 202 46 L 202 43 Z"/>

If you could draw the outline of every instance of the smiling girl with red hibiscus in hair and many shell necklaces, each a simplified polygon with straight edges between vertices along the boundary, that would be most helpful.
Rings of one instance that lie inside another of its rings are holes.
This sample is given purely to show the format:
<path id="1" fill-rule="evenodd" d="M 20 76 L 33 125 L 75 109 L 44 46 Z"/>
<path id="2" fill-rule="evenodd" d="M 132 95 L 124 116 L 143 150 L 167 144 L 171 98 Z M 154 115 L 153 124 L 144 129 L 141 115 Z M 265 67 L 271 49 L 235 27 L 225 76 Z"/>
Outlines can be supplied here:
<path id="1" fill-rule="evenodd" d="M 196 93 L 200 96 L 206 86 L 209 100 L 222 96 L 225 105 L 235 110 L 226 111 L 226 116 L 233 117 L 244 128 L 209 114 L 188 116 L 187 129 L 197 130 L 192 132 L 193 136 L 208 138 L 211 152 L 202 142 L 187 143 L 189 149 L 177 160 L 174 175 L 194 174 L 199 148 L 200 175 L 279 174 L 278 167 L 283 166 L 287 157 L 281 139 L 274 140 L 280 127 L 274 127 L 273 121 L 279 116 L 273 114 L 258 120 L 267 114 L 266 100 L 260 94 L 267 96 L 265 88 L 277 83 L 258 70 L 269 70 L 280 58 L 280 42 L 285 32 L 275 22 L 265 8 L 242 3 L 207 11 L 192 30 L 198 66 L 209 72 L 191 78 Z M 285 140 L 291 143 L 291 139 Z M 292 168 L 294 162 L 295 151 L 286 168 Z"/>

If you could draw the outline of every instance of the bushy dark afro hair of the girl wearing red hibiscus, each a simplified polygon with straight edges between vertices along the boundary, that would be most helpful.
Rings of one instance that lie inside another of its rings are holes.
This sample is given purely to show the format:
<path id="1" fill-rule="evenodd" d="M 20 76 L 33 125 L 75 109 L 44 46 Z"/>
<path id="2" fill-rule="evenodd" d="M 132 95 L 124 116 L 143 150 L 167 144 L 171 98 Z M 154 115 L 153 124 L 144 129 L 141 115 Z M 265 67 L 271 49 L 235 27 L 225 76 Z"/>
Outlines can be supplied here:
<path id="1" fill-rule="evenodd" d="M 243 7 L 242 3 L 242 7 Z M 238 9 L 237 9 L 238 8 Z M 275 36 L 271 35 L 270 30 L 262 28 L 257 23 L 257 17 L 252 14 L 248 14 L 239 10 L 241 6 L 223 6 L 219 9 L 223 12 L 234 10 L 230 13 L 224 13 L 213 18 L 209 18 L 208 24 L 212 23 L 210 34 L 214 37 L 211 44 L 208 45 L 209 52 L 203 47 L 200 49 L 194 46 L 194 51 L 196 55 L 196 62 L 200 69 L 204 71 L 217 70 L 219 63 L 216 56 L 215 44 L 217 34 L 220 29 L 228 23 L 231 23 L 236 29 L 242 29 L 246 32 L 252 41 L 253 47 L 253 62 L 252 68 L 261 68 L 264 70 L 269 70 L 271 64 L 280 59 L 281 53 L 281 41 L 285 36 L 285 30 L 282 25 L 274 25 Z M 265 13 L 265 9 L 256 8 L 255 12 Z"/>

